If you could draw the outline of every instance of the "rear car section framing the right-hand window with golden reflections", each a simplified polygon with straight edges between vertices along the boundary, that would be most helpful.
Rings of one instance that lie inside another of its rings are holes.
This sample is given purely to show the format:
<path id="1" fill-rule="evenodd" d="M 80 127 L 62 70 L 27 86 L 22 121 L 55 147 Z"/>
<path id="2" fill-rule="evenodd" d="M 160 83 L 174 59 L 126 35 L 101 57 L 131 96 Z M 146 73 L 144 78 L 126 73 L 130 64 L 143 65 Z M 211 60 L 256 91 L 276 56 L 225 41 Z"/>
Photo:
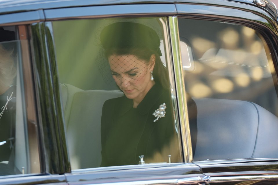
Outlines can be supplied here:
<path id="1" fill-rule="evenodd" d="M 276 15 L 255 3 L 176 7 L 185 91 L 197 104 L 194 164 L 210 184 L 277 184 Z"/>

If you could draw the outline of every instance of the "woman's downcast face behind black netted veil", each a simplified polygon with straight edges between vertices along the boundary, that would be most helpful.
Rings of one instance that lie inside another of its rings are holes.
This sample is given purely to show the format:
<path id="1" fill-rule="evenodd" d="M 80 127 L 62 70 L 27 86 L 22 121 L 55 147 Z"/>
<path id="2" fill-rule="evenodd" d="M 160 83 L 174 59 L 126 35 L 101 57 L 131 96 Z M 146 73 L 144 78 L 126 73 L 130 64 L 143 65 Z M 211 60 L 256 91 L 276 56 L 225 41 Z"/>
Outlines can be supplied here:
<path id="1" fill-rule="evenodd" d="M 155 55 L 147 62 L 135 55 L 111 55 L 108 61 L 116 84 L 127 98 L 139 104 L 154 85 L 154 81 L 151 81 L 151 71 Z"/>

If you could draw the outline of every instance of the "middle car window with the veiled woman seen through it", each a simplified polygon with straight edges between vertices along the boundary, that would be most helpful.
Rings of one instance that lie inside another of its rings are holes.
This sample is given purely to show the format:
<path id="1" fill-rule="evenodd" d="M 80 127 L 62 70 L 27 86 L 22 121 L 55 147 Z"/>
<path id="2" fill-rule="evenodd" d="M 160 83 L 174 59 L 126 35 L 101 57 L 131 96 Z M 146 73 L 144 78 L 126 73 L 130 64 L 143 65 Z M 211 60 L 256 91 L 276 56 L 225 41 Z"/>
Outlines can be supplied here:
<path id="1" fill-rule="evenodd" d="M 72 169 L 182 162 L 166 20 L 52 23 Z"/>

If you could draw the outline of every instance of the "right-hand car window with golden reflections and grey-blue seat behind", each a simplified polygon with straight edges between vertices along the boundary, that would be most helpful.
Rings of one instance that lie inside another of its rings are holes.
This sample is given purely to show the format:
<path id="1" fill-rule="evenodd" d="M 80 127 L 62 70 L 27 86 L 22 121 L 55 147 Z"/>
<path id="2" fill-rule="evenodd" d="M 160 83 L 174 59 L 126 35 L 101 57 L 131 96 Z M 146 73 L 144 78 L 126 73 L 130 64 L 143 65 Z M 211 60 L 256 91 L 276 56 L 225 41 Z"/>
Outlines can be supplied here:
<path id="1" fill-rule="evenodd" d="M 194 161 L 278 157 L 277 75 L 264 38 L 183 18 L 179 31 L 185 88 L 197 106 Z"/>

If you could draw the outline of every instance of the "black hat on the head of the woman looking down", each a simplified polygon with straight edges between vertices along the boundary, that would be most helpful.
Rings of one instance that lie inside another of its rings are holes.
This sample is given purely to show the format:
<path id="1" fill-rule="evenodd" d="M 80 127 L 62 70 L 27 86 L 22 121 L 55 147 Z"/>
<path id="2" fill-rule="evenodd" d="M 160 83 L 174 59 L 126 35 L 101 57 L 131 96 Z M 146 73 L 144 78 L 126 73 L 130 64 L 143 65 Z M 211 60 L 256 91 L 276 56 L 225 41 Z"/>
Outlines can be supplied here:
<path id="1" fill-rule="evenodd" d="M 150 49 L 162 55 L 160 39 L 155 30 L 140 23 L 113 23 L 100 33 L 100 41 L 105 50 L 142 48 Z"/>

